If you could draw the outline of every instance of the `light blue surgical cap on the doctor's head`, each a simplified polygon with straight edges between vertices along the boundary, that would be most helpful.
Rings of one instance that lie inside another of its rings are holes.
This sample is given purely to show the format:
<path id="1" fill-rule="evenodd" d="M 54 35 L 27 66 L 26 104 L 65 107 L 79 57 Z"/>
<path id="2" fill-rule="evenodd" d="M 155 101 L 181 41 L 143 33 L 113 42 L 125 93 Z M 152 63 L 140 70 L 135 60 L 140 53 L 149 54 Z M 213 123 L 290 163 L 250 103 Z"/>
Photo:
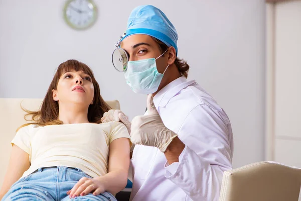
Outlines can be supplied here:
<path id="1" fill-rule="evenodd" d="M 123 39 L 134 34 L 153 36 L 167 46 L 173 46 L 178 54 L 177 30 L 166 15 L 154 6 L 144 5 L 136 7 L 128 18 L 125 34 Z"/>

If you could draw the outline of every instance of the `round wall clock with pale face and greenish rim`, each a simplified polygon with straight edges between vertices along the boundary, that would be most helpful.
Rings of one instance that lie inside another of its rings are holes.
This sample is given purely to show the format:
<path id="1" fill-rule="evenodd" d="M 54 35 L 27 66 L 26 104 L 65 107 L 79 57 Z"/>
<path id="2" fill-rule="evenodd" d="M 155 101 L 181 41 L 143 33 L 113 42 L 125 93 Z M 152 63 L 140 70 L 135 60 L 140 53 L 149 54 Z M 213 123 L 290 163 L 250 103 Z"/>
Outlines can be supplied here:
<path id="1" fill-rule="evenodd" d="M 96 5 L 92 0 L 68 0 L 64 8 L 64 18 L 73 29 L 87 29 L 97 19 Z"/>

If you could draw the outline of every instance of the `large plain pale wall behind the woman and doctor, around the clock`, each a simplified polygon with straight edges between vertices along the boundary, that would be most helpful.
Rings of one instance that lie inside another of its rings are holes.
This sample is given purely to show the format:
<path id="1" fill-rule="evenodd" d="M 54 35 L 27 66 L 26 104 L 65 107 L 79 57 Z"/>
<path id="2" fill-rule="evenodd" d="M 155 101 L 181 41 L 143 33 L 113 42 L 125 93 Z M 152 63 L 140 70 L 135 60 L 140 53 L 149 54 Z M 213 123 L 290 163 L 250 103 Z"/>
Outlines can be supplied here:
<path id="1" fill-rule="evenodd" d="M 55 68 L 78 59 L 93 69 L 104 99 L 118 99 L 130 119 L 143 114 L 114 70 L 111 53 L 141 1 L 98 1 L 99 18 L 87 31 L 63 20 L 65 1 L 0 0 L 0 97 L 44 97 Z M 179 56 L 227 112 L 234 133 L 233 166 L 264 159 L 264 18 L 262 0 L 152 0 L 179 33 Z"/>

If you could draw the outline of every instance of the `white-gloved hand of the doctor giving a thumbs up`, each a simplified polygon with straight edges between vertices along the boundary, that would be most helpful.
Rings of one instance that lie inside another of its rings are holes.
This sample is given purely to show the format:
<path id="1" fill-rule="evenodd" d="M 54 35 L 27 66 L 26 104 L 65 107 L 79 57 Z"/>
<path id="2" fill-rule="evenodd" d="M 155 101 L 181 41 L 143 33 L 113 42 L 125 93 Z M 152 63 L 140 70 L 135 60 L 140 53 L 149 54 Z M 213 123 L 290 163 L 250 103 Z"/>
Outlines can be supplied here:
<path id="1" fill-rule="evenodd" d="M 164 153 L 178 135 L 163 124 L 154 105 L 153 94 L 147 96 L 147 111 L 147 115 L 133 118 L 130 140 L 133 144 L 158 147 Z"/>

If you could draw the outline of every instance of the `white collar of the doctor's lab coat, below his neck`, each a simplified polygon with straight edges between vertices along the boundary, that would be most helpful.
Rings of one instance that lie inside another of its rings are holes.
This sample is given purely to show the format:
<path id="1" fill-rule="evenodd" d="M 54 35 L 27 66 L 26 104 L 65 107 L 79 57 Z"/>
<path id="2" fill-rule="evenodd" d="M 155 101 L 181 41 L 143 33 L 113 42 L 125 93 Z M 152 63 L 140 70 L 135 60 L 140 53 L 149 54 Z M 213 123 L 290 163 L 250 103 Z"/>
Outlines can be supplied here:
<path id="1" fill-rule="evenodd" d="M 159 107 L 165 107 L 168 104 L 169 100 L 174 97 L 179 91 L 195 82 L 195 80 L 187 81 L 186 77 L 181 76 L 163 87 L 154 96 L 154 104 L 156 106 L 156 109 L 158 110 Z"/>

